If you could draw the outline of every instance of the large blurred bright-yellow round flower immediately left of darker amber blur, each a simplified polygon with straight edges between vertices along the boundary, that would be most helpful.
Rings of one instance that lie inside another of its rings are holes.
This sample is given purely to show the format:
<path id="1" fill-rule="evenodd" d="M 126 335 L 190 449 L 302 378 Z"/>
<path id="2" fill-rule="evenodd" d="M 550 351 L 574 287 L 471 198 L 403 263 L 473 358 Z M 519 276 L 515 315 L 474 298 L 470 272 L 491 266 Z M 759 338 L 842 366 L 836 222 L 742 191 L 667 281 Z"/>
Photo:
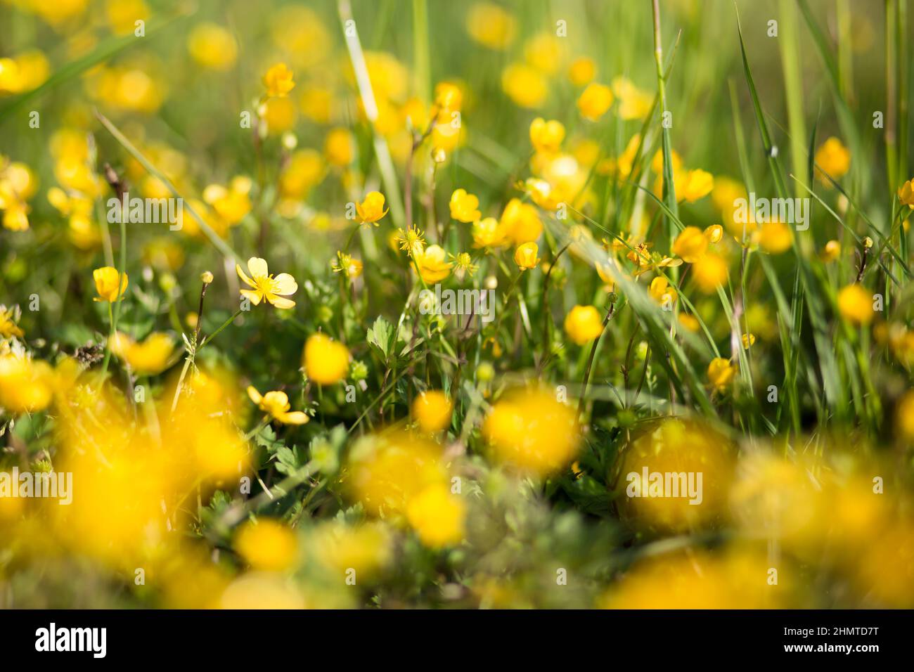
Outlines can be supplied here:
<path id="1" fill-rule="evenodd" d="M 542 389 L 515 392 L 495 403 L 483 436 L 498 460 L 537 476 L 570 464 L 579 447 L 574 411 Z"/>

